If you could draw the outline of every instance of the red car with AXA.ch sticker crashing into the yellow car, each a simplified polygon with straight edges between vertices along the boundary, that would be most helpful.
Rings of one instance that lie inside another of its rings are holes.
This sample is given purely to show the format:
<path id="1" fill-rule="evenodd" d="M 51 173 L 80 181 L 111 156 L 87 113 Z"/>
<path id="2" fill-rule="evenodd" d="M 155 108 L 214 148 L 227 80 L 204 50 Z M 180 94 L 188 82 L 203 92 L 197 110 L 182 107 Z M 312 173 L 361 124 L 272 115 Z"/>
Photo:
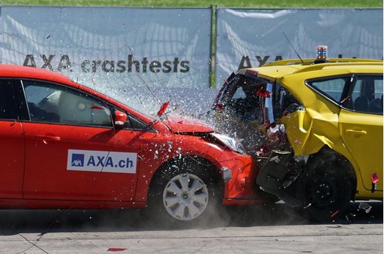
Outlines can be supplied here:
<path id="1" fill-rule="evenodd" d="M 256 166 L 200 123 L 152 119 L 64 75 L 0 65 L 0 207 L 144 208 L 179 221 L 253 204 Z"/>

